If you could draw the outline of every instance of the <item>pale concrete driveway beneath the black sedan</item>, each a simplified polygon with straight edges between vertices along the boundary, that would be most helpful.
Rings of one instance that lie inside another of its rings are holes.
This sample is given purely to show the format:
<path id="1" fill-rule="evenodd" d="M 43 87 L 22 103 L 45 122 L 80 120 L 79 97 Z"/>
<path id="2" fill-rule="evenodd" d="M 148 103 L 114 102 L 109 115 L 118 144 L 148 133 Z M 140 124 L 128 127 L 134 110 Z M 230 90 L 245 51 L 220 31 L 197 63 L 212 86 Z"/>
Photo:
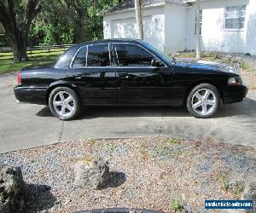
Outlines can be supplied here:
<path id="1" fill-rule="evenodd" d="M 83 138 L 168 135 L 213 137 L 256 147 L 256 92 L 245 101 L 221 107 L 215 118 L 197 119 L 183 107 L 84 108 L 79 119 L 62 122 L 48 107 L 18 104 L 16 74 L 0 76 L 0 153 Z"/>

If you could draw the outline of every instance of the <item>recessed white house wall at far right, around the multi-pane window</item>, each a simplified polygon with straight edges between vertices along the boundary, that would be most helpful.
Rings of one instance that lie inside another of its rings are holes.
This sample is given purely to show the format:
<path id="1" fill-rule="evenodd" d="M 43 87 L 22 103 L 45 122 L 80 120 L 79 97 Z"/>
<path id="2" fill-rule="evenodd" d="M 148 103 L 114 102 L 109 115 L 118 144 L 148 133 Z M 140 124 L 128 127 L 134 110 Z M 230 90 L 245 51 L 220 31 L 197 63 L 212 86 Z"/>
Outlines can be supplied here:
<path id="1" fill-rule="evenodd" d="M 212 0 L 201 3 L 203 21 L 202 50 L 250 53 L 256 55 L 256 1 Z M 247 4 L 245 28 L 224 29 L 225 7 Z M 187 48 L 195 49 L 195 7 L 187 9 Z"/>

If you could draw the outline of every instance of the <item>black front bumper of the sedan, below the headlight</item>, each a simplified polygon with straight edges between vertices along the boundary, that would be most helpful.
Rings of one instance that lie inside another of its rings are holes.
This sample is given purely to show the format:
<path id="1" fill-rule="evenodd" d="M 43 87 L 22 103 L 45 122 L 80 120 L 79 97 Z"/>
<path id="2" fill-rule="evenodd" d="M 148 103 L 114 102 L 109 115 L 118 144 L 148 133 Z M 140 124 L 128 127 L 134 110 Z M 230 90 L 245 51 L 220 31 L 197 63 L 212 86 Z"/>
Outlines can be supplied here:
<path id="1" fill-rule="evenodd" d="M 230 86 L 224 93 L 224 104 L 231 104 L 243 101 L 247 96 L 248 88 L 245 85 Z"/>

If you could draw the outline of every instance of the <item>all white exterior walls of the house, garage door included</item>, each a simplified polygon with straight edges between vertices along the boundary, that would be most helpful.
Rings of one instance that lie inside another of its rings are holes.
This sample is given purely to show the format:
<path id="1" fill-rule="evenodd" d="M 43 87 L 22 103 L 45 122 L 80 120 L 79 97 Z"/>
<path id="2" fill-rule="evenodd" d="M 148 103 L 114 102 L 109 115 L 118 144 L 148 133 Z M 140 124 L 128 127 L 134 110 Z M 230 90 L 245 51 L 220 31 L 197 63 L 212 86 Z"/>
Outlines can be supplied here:
<path id="1" fill-rule="evenodd" d="M 225 7 L 247 4 L 245 28 L 224 29 Z M 256 0 L 207 0 L 201 3 L 201 47 L 207 51 L 256 55 Z M 166 54 L 195 49 L 195 7 L 166 3 L 144 9 L 145 40 Z M 137 38 L 135 11 L 104 15 L 104 38 Z"/>

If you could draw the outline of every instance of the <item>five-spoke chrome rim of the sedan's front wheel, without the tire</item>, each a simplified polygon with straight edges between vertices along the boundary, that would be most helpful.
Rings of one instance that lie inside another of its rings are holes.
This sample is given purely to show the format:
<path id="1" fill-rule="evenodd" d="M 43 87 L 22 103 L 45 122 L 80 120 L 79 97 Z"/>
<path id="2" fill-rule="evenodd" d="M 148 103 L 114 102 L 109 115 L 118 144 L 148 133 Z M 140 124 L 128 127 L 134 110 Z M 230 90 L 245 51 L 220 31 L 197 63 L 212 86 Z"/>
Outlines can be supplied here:
<path id="1" fill-rule="evenodd" d="M 203 116 L 206 116 L 217 107 L 217 98 L 211 89 L 199 89 L 191 100 L 192 109 Z"/>

